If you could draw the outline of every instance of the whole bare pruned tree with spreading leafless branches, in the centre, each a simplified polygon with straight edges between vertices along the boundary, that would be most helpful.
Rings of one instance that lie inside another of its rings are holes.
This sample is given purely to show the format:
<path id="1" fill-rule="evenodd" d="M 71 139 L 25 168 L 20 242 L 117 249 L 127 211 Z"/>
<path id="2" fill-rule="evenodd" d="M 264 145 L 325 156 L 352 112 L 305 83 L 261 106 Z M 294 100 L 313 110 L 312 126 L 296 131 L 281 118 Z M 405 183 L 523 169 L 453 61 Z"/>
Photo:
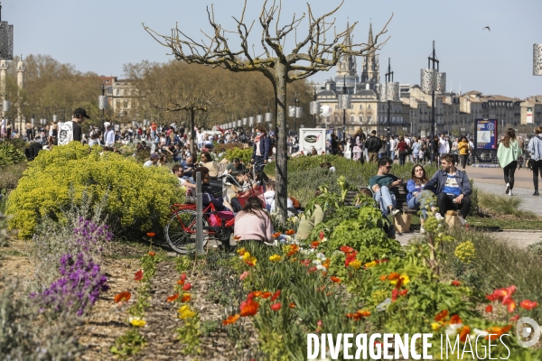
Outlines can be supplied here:
<path id="1" fill-rule="evenodd" d="M 193 37 L 182 32 L 178 27 L 172 30 L 171 35 L 161 35 L 158 32 L 148 28 L 143 24 L 145 30 L 165 47 L 173 51 L 175 59 L 186 61 L 187 63 L 196 63 L 208 65 L 210 67 L 220 67 L 235 72 L 241 71 L 260 71 L 273 84 L 276 97 L 276 133 L 277 133 L 277 152 L 276 152 L 276 192 L 277 204 L 280 209 L 280 218 L 285 222 L 287 217 L 287 165 L 286 165 L 286 84 L 299 79 L 306 79 L 319 71 L 327 71 L 344 55 L 365 56 L 378 49 L 387 41 L 378 42 L 378 38 L 387 32 L 386 27 L 378 32 L 373 44 L 367 43 L 348 43 L 350 34 L 353 32 L 357 23 L 347 27 L 344 32 L 336 32 L 335 19 L 328 22 L 328 18 L 335 14 L 342 6 L 337 6 L 334 10 L 320 17 L 315 17 L 311 5 L 307 4 L 307 14 L 298 17 L 294 14 L 292 21 L 284 26 L 280 25 L 280 16 L 282 10 L 282 1 L 265 0 L 258 22 L 261 26 L 261 49 L 256 54 L 255 45 L 250 45 L 248 37 L 254 28 L 256 20 L 247 23 L 245 12 L 247 10 L 247 0 L 239 19 L 233 18 L 237 23 L 237 30 L 228 31 L 220 23 L 215 21 L 214 10 L 211 5 L 207 8 L 209 23 L 213 32 L 208 34 L 203 32 L 204 38 L 201 41 L 194 40 Z M 392 14 L 393 16 L 393 14 Z M 297 28 L 304 20 L 308 21 L 308 32 L 301 41 L 297 41 Z M 330 31 L 332 30 L 332 34 Z M 228 34 L 237 33 L 240 41 L 239 50 L 233 51 L 229 44 Z M 286 37 L 293 34 L 294 49 L 288 54 L 285 51 Z"/>

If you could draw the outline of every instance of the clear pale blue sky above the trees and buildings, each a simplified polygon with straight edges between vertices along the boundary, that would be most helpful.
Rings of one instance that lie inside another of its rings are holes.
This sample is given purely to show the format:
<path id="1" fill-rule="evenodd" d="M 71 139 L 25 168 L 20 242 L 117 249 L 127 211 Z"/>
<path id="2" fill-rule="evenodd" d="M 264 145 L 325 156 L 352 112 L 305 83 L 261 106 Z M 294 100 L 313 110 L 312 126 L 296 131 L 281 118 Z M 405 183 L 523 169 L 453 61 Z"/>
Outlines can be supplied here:
<path id="1" fill-rule="evenodd" d="M 216 18 L 225 25 L 232 25 L 230 15 L 238 16 L 243 5 L 241 0 L 215 3 Z M 306 11 L 304 1 L 284 3 L 284 21 Z M 323 14 L 339 1 L 310 3 L 314 14 Z M 141 23 L 168 33 L 178 22 L 180 29 L 198 38 L 200 29 L 210 30 L 205 10 L 210 4 L 208 0 L 9 0 L 2 3 L 2 20 L 14 24 L 17 54 L 48 54 L 81 71 L 121 76 L 125 63 L 172 59 Z M 257 19 L 262 4 L 249 0 L 246 17 Z M 372 20 L 376 33 L 392 13 L 391 39 L 379 52 L 381 81 L 391 57 L 396 81 L 419 83 L 420 69 L 427 66 L 435 40 L 448 89 L 458 90 L 461 82 L 463 92 L 542 95 L 542 77 L 532 75 L 532 45 L 542 42 L 541 0 L 345 0 L 336 14 L 338 29 L 345 27 L 348 17 L 350 23 L 358 22 L 355 40 L 365 42 L 369 22 Z M 491 32 L 482 31 L 487 25 Z M 256 23 L 252 39 L 256 43 L 258 28 Z M 303 29 L 302 25 L 299 34 Z M 230 35 L 231 43 L 236 43 L 234 37 Z M 332 69 L 313 80 L 334 75 Z"/>

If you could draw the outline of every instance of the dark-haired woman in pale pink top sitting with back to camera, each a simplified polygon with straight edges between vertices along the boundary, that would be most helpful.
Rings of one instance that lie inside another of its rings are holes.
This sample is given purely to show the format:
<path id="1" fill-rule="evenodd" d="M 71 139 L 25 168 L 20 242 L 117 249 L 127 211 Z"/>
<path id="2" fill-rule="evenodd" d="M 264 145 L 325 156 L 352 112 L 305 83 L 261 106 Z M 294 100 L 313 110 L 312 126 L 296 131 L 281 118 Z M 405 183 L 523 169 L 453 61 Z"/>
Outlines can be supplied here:
<path id="1" fill-rule="evenodd" d="M 239 241 L 273 243 L 273 224 L 257 197 L 248 197 L 243 210 L 235 216 L 235 236 Z"/>

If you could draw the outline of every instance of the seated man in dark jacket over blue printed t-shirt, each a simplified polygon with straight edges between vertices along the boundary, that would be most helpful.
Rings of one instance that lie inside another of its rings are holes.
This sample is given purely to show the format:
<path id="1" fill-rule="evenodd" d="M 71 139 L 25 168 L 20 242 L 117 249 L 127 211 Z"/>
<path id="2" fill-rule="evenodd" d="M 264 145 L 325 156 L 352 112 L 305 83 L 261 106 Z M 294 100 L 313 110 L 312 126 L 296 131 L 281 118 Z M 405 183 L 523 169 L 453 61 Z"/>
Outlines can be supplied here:
<path id="1" fill-rule="evenodd" d="M 436 171 L 425 189 L 434 189 L 440 215 L 444 216 L 448 209 L 459 209 L 462 218 L 466 218 L 471 210 L 471 182 L 467 173 L 455 168 L 453 154 L 441 155 L 442 170 Z M 440 218 L 440 217 L 437 217 Z"/>

